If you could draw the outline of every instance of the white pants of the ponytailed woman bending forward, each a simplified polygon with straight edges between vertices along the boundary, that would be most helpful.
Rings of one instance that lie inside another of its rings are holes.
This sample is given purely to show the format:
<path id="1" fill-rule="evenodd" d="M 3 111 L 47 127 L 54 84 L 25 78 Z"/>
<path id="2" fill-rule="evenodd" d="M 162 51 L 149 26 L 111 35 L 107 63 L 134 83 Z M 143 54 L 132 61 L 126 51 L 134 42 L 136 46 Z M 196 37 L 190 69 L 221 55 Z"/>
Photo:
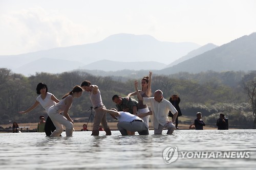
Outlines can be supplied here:
<path id="1" fill-rule="evenodd" d="M 73 134 L 73 124 L 64 116 L 58 113 L 54 108 L 48 110 L 48 115 L 52 119 L 56 130 L 50 135 L 50 137 L 58 137 L 63 132 L 63 126 L 66 127 L 66 136 L 72 136 Z"/>

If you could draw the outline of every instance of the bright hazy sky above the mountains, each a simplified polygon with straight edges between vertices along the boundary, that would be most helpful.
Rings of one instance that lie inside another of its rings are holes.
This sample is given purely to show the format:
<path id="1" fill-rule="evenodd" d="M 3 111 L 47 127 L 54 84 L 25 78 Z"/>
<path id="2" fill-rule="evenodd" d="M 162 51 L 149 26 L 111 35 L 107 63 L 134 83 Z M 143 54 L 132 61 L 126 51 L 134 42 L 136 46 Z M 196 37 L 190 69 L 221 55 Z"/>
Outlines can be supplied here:
<path id="1" fill-rule="evenodd" d="M 119 33 L 222 45 L 256 32 L 255 0 L 0 0 L 0 55 L 87 44 Z"/>

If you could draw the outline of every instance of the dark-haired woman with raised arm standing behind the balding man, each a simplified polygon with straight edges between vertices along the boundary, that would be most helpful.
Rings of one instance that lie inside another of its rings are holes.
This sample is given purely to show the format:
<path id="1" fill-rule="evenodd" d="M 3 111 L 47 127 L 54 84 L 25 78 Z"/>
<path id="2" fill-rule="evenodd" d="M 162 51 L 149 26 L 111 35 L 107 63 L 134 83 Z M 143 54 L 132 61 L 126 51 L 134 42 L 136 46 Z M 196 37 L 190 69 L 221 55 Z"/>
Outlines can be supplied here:
<path id="1" fill-rule="evenodd" d="M 149 77 L 143 77 L 141 79 L 141 90 L 139 90 L 139 93 L 140 95 L 142 96 L 142 98 L 149 98 L 152 94 L 151 92 L 151 77 L 152 77 L 152 71 L 150 71 L 150 76 Z M 130 96 L 131 95 L 137 95 L 137 92 L 132 92 L 132 93 L 129 93 L 127 96 Z M 138 100 L 138 106 L 137 106 L 137 116 L 138 117 L 141 117 L 140 114 L 142 113 L 146 113 L 146 112 L 149 112 L 150 109 L 148 109 L 147 105 L 143 105 L 143 101 L 140 101 Z M 147 115 L 145 117 L 141 117 L 144 122 L 147 124 L 147 126 L 149 127 L 149 122 L 150 122 L 150 116 Z"/>

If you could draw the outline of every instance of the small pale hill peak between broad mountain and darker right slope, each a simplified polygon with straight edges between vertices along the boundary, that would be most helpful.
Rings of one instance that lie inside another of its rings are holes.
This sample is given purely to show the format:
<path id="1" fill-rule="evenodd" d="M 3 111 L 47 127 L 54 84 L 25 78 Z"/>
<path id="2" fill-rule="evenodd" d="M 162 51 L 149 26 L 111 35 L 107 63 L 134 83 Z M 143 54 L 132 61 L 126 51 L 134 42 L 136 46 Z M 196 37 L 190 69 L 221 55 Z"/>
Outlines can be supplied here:
<path id="1" fill-rule="evenodd" d="M 207 52 L 207 51 L 210 51 L 210 50 L 212 50 L 212 49 L 214 49 L 214 48 L 216 48 L 216 47 L 218 47 L 218 46 L 215 45 L 215 44 L 212 44 L 212 43 L 208 43 L 208 44 L 206 44 L 206 45 L 204 45 L 204 46 L 201 46 L 200 48 L 198 48 L 198 49 L 196 49 L 196 50 L 193 50 L 193 51 L 189 52 L 187 55 L 185 55 L 185 56 L 179 58 L 178 60 L 176 60 L 176 61 L 170 63 L 170 64 L 167 65 L 166 67 L 174 66 L 174 65 L 179 64 L 179 63 L 181 63 L 181 62 L 183 62 L 183 61 L 185 61 L 185 60 L 188 60 L 188 59 L 190 59 L 190 58 L 193 58 L 193 57 L 195 57 L 195 56 L 198 56 L 198 55 L 200 55 L 200 54 L 203 54 L 203 53 L 205 53 L 205 52 Z"/>

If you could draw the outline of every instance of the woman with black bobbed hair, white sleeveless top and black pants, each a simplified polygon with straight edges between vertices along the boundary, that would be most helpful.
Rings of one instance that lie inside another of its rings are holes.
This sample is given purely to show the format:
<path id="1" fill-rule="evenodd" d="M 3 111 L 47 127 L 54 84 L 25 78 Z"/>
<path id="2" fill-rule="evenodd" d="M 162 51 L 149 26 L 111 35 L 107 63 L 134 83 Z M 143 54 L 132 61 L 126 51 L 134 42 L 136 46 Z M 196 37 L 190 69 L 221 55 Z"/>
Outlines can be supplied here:
<path id="1" fill-rule="evenodd" d="M 25 111 L 20 111 L 19 113 L 28 113 L 34 108 L 36 108 L 39 104 L 48 112 L 48 109 L 59 102 L 57 98 L 52 93 L 48 92 L 47 85 L 45 83 L 38 83 L 36 86 L 36 93 L 40 94 L 37 98 L 35 103 L 30 106 Z M 55 126 L 52 123 L 51 118 L 48 116 L 45 124 L 45 133 L 46 136 L 50 136 L 52 132 L 55 130 Z"/>

